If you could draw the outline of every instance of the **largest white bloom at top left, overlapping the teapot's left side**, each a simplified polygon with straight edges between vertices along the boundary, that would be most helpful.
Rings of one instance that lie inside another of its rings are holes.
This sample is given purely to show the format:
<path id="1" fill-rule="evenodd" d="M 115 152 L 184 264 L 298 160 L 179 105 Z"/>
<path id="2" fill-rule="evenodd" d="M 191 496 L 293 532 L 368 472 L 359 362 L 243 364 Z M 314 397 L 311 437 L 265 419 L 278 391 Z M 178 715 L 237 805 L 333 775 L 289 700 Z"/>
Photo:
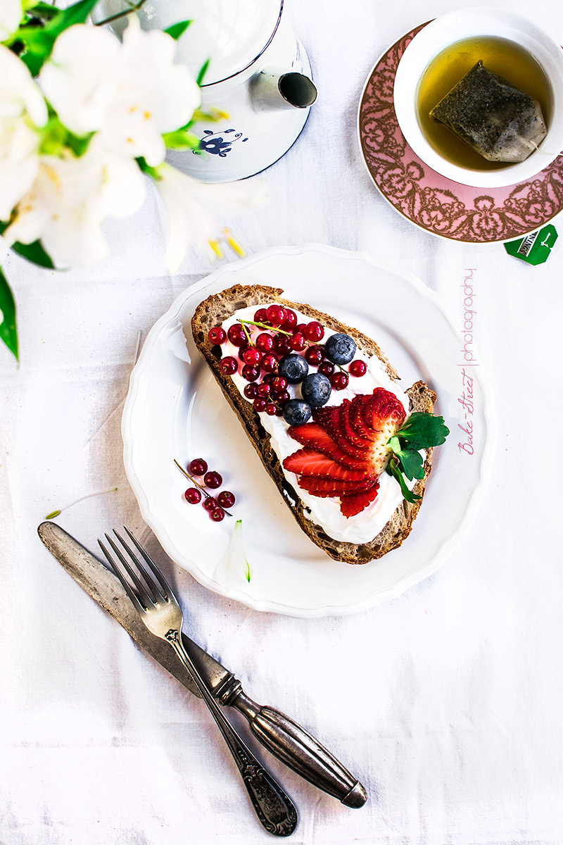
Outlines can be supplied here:
<path id="1" fill-rule="evenodd" d="M 185 125 L 201 101 L 175 52 L 170 35 L 144 32 L 134 16 L 122 44 L 107 30 L 76 25 L 58 36 L 40 83 L 73 133 L 99 131 L 116 153 L 157 166 L 165 159 L 162 134 Z"/>

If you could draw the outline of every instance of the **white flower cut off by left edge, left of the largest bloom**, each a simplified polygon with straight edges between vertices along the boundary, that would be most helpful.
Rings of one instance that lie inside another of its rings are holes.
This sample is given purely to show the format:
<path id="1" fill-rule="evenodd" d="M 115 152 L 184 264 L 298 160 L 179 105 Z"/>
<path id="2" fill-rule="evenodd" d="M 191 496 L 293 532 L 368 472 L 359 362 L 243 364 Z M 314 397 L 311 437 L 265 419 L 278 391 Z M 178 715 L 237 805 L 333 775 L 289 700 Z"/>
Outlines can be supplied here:
<path id="1" fill-rule="evenodd" d="M 9 219 L 37 175 L 37 129 L 46 121 L 46 104 L 29 70 L 0 44 L 0 220 Z"/>

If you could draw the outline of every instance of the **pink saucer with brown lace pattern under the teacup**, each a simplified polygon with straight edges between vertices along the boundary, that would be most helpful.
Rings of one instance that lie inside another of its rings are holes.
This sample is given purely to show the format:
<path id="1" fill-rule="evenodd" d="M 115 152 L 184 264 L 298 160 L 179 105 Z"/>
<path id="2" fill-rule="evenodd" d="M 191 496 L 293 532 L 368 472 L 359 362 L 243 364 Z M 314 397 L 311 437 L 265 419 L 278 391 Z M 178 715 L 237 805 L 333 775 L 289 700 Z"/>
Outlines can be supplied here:
<path id="1" fill-rule="evenodd" d="M 471 188 L 431 170 L 404 139 L 393 107 L 393 82 L 409 41 L 425 25 L 393 44 L 365 83 L 360 147 L 376 188 L 415 226 L 453 241 L 510 241 L 544 226 L 563 209 L 563 154 L 518 185 Z"/>

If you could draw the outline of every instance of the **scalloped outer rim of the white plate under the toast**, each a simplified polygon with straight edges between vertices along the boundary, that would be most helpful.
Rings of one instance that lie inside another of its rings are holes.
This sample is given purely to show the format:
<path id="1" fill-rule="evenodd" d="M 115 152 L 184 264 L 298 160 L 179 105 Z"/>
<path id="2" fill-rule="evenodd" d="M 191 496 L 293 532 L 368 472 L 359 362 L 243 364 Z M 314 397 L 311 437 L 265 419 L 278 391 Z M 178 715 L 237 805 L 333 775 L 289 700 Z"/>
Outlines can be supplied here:
<path id="1" fill-rule="evenodd" d="M 458 332 L 456 327 L 457 320 L 452 316 L 452 313 L 445 303 L 442 302 L 441 297 L 439 297 L 439 295 L 432 291 L 429 287 L 425 286 L 425 284 L 409 270 L 403 270 L 403 268 L 396 265 L 376 261 L 371 254 L 362 250 L 346 250 L 322 243 L 311 243 L 292 247 L 273 247 L 246 259 L 234 261 L 230 264 L 223 264 L 217 270 L 214 270 L 209 275 L 204 276 L 203 279 L 194 282 L 193 285 L 187 287 L 183 292 L 181 292 L 181 294 L 179 294 L 178 297 L 176 297 L 174 302 L 171 304 L 171 307 L 149 330 L 149 334 L 147 335 L 147 338 L 143 343 L 143 348 L 139 354 L 138 361 L 133 367 L 133 371 L 131 373 L 129 390 L 127 392 L 122 414 L 123 461 L 127 478 L 133 488 L 133 493 L 135 493 L 138 500 L 138 506 L 141 511 L 141 515 L 143 516 L 143 520 L 153 530 L 162 548 L 169 557 L 176 562 L 176 564 L 181 566 L 182 569 L 186 569 L 190 572 L 196 581 L 220 596 L 227 597 L 225 591 L 220 589 L 218 583 L 209 578 L 209 576 L 199 568 L 197 563 L 185 558 L 181 549 L 177 548 L 175 543 L 168 536 L 168 532 L 162 524 L 162 521 L 160 521 L 160 518 L 154 515 L 154 513 L 150 510 L 149 502 L 143 491 L 143 486 L 134 470 L 132 458 L 133 445 L 131 421 L 133 406 L 138 393 L 139 381 L 144 370 L 149 365 L 150 352 L 152 351 L 154 345 L 159 341 L 160 331 L 172 320 L 179 319 L 179 313 L 181 312 L 181 309 L 184 308 L 188 299 L 191 299 L 194 296 L 197 297 L 198 293 L 202 292 L 204 288 L 213 285 L 221 277 L 228 277 L 231 274 L 236 274 L 241 270 L 245 270 L 245 268 L 252 266 L 252 264 L 257 264 L 263 259 L 268 259 L 276 255 L 299 255 L 314 251 L 322 252 L 338 259 L 361 259 L 367 264 L 371 264 L 371 266 L 376 270 L 387 270 L 401 276 L 404 281 L 407 281 L 414 288 L 414 291 L 420 296 L 430 299 L 435 307 L 441 311 L 442 316 L 446 319 L 452 331 Z M 230 283 L 225 283 L 225 287 L 228 286 L 230 286 Z M 350 602 L 347 605 L 323 604 L 311 608 L 295 608 L 289 604 L 280 604 L 272 599 L 257 600 L 255 597 L 248 596 L 246 593 L 236 590 L 230 590 L 228 598 L 230 600 L 235 599 L 235 601 L 239 601 L 254 610 L 267 613 L 281 613 L 284 615 L 296 616 L 301 619 L 322 618 L 324 616 L 347 616 L 352 613 L 360 613 L 360 611 L 373 608 L 377 604 L 396 598 L 404 591 L 409 590 L 410 587 L 418 584 L 420 581 L 424 581 L 425 578 L 428 578 L 430 575 L 433 575 L 436 570 L 444 564 L 449 554 L 452 553 L 452 550 L 457 542 L 460 542 L 463 537 L 467 535 L 468 530 L 477 515 L 485 490 L 490 482 L 492 466 L 490 458 L 492 455 L 493 444 L 496 440 L 496 424 L 494 413 L 491 410 L 490 386 L 483 371 L 479 372 L 479 384 L 483 390 L 484 407 L 482 416 L 485 419 L 487 430 L 483 455 L 479 463 L 479 480 L 475 484 L 474 490 L 468 498 L 467 510 L 457 526 L 457 530 L 444 539 L 433 557 L 424 566 L 422 566 L 420 570 L 416 570 L 413 573 L 400 578 L 388 589 L 376 591 L 358 602 Z"/>

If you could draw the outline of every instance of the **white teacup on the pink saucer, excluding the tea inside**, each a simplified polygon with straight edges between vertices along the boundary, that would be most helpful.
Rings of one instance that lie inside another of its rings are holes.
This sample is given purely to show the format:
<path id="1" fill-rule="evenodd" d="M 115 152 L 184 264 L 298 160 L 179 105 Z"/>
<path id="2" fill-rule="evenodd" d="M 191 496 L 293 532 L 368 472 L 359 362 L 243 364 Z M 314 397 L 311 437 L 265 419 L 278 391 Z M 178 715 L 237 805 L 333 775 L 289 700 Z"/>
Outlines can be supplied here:
<path id="1" fill-rule="evenodd" d="M 547 135 L 526 161 L 495 170 L 476 170 L 448 161 L 430 144 L 420 127 L 418 85 L 432 59 L 442 50 L 474 37 L 504 38 L 527 50 L 543 69 L 551 88 Z M 398 63 L 393 90 L 398 125 L 416 155 L 442 176 L 476 188 L 513 185 L 544 170 L 563 150 L 563 50 L 544 30 L 501 8 L 464 8 L 431 21 L 414 36 Z"/>

